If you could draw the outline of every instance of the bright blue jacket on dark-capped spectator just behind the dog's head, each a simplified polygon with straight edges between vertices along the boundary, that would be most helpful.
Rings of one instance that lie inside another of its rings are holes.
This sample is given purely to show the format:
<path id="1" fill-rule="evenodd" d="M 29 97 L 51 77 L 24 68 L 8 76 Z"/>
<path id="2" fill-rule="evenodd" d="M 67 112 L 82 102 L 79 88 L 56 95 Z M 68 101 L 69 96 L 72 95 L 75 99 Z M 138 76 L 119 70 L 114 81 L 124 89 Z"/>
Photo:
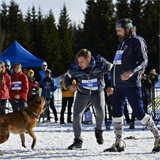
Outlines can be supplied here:
<path id="1" fill-rule="evenodd" d="M 46 77 L 41 79 L 40 87 L 42 87 L 42 96 L 45 98 L 52 98 L 53 91 L 57 89 L 57 82 L 52 77 L 46 80 Z"/>

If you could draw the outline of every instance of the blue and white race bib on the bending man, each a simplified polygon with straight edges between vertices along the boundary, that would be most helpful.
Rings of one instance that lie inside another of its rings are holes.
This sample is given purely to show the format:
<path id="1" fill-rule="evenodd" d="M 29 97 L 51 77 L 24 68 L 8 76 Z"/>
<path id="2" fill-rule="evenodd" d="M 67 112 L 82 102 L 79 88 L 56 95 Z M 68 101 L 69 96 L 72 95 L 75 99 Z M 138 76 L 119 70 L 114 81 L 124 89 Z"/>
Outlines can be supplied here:
<path id="1" fill-rule="evenodd" d="M 82 80 L 82 86 L 89 90 L 98 90 L 97 78 L 90 80 Z"/>

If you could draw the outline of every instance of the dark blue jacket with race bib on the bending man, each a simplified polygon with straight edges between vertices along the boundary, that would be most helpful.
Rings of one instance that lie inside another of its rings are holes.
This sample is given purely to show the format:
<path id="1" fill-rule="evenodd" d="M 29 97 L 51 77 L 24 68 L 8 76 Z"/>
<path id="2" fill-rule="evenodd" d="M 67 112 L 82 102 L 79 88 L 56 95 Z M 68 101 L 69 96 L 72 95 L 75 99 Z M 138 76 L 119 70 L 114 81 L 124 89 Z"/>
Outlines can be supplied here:
<path id="1" fill-rule="evenodd" d="M 111 67 L 112 64 L 98 54 L 92 54 L 91 68 L 88 70 L 82 70 L 73 61 L 64 79 L 65 86 L 69 88 L 75 79 L 80 93 L 86 95 L 98 93 L 104 89 L 104 74 L 109 73 Z"/>

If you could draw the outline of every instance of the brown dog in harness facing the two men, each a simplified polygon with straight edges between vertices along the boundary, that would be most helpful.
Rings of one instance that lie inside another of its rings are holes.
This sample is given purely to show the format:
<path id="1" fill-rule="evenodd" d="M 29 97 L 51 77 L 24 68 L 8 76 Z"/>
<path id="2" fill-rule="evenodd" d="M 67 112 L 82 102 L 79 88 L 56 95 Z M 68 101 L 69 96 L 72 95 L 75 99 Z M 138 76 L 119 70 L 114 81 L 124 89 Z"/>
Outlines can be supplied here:
<path id="1" fill-rule="evenodd" d="M 0 144 L 4 143 L 9 138 L 9 132 L 20 134 L 22 146 L 26 148 L 24 133 L 27 132 L 33 142 L 31 148 L 36 145 L 36 136 L 33 128 L 37 125 L 37 119 L 42 113 L 45 105 L 44 97 L 37 97 L 29 103 L 28 107 L 13 113 L 3 114 L 0 116 Z M 0 153 L 0 155 L 3 155 Z"/>

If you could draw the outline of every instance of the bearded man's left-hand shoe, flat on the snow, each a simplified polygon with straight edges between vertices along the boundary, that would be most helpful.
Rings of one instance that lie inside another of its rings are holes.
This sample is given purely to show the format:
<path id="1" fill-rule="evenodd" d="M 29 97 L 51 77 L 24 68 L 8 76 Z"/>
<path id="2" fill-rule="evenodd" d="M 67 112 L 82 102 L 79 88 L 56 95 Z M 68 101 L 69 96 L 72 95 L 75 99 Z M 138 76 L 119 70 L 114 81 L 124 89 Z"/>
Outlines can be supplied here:
<path id="1" fill-rule="evenodd" d="M 115 142 L 110 148 L 104 150 L 104 152 L 122 152 L 124 151 L 125 145 L 123 141 Z"/>

